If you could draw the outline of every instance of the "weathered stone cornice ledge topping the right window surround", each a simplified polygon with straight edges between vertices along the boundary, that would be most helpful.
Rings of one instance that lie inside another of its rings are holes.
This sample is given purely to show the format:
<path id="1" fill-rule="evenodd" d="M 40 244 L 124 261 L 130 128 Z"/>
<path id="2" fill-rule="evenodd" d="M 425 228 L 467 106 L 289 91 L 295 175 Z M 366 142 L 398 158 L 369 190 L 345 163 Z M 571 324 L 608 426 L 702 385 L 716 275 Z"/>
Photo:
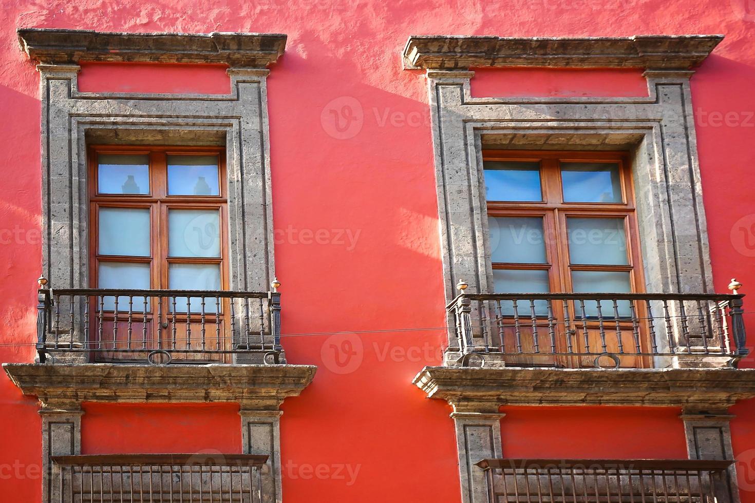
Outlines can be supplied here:
<path id="1" fill-rule="evenodd" d="M 699 65 L 723 35 L 632 37 L 489 37 L 414 35 L 404 48 L 407 69 L 559 66 L 686 70 Z"/>

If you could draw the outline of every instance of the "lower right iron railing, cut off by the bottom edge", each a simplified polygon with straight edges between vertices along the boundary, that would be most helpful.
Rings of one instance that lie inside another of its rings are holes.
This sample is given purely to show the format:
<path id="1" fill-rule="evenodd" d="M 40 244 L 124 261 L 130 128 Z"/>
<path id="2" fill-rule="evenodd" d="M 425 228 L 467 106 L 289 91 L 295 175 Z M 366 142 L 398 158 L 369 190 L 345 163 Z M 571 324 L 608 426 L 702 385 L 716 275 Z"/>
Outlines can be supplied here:
<path id="1" fill-rule="evenodd" d="M 488 503 L 725 503 L 731 461 L 484 459 Z"/>

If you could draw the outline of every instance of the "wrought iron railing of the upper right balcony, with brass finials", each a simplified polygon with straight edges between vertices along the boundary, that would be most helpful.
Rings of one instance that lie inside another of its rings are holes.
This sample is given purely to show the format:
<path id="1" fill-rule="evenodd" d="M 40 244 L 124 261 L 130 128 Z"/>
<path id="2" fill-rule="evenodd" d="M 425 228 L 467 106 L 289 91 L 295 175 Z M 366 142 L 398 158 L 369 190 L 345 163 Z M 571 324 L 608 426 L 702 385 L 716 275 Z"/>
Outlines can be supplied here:
<path id="1" fill-rule="evenodd" d="M 732 280 L 732 290 L 740 285 Z M 747 355 L 739 294 L 465 293 L 446 306 L 462 364 L 708 367 Z"/>

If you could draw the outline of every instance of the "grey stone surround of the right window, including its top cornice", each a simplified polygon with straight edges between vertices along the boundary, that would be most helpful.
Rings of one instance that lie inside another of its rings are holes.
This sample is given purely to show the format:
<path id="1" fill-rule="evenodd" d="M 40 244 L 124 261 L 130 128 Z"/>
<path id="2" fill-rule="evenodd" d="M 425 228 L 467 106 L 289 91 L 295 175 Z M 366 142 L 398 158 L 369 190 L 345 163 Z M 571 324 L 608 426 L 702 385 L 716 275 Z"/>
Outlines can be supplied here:
<path id="1" fill-rule="evenodd" d="M 646 291 L 713 285 L 689 79 L 723 35 L 626 38 L 409 38 L 406 69 L 424 69 L 432 120 L 446 301 L 460 280 L 492 291 L 482 148 L 626 149 L 633 159 Z M 470 67 L 634 67 L 646 97 L 472 97 Z M 496 146 L 490 146 L 493 142 Z M 449 322 L 449 327 L 453 324 Z M 458 360 L 448 334 L 446 364 Z"/>

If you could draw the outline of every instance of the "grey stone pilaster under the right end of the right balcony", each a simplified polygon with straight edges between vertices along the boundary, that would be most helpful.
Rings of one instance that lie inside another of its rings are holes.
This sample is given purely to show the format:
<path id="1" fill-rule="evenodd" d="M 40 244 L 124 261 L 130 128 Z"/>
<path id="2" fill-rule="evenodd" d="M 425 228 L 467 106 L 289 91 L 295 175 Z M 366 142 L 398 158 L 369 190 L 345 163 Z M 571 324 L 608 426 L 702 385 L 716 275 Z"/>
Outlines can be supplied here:
<path id="1" fill-rule="evenodd" d="M 684 409 L 684 422 L 689 459 L 734 459 L 732 431 L 729 422 L 734 417 L 726 410 L 702 411 Z M 714 480 L 720 503 L 739 503 L 737 468 L 729 467 L 726 480 Z"/>

